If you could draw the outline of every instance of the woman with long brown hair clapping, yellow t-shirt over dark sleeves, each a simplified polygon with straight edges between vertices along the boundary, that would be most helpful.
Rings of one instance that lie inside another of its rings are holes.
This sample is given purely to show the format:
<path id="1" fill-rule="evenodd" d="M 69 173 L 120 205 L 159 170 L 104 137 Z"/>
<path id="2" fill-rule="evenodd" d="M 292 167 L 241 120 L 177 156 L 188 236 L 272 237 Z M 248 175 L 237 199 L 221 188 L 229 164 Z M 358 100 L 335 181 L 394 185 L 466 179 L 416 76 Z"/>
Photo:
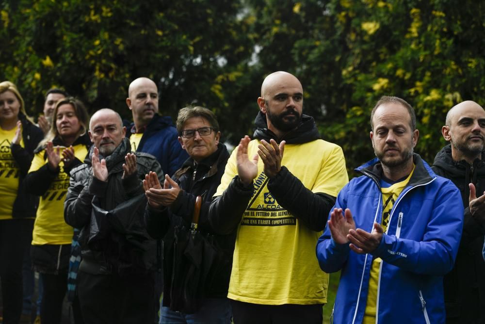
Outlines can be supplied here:
<path id="1" fill-rule="evenodd" d="M 81 164 L 91 141 L 87 134 L 88 114 L 81 101 L 67 97 L 54 109 L 49 133 L 35 150 L 28 192 L 40 196 L 32 234 L 32 266 L 44 285 L 41 323 L 61 323 L 62 303 L 67 290 L 67 273 L 73 228 L 64 221 L 64 198 L 69 171 Z M 79 308 L 73 304 L 75 322 Z"/>

